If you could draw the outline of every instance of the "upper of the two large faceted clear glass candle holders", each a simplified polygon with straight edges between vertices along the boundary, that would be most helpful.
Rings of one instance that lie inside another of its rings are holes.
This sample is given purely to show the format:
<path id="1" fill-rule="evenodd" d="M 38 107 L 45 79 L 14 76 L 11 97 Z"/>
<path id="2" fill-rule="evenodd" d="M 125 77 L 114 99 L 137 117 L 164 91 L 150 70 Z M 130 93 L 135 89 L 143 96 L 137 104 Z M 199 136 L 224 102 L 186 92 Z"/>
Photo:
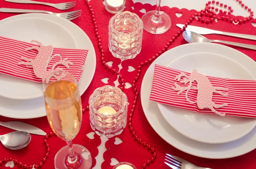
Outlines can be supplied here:
<path id="1" fill-rule="evenodd" d="M 114 57 L 133 59 L 141 51 L 143 22 L 129 11 L 115 14 L 108 25 L 108 48 Z"/>

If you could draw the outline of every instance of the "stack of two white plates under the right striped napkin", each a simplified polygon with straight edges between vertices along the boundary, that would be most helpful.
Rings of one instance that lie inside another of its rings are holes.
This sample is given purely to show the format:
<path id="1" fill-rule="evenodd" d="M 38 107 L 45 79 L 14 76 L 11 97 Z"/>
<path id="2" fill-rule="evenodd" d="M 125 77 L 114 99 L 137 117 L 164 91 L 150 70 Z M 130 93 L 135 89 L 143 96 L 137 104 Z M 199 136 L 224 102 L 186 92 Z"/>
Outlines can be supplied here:
<path id="1" fill-rule="evenodd" d="M 203 158 L 232 158 L 256 148 L 256 119 L 201 114 L 149 100 L 154 65 L 215 77 L 255 80 L 256 62 L 227 46 L 190 43 L 173 48 L 148 68 L 141 86 L 141 102 L 153 129 L 183 152 Z"/>

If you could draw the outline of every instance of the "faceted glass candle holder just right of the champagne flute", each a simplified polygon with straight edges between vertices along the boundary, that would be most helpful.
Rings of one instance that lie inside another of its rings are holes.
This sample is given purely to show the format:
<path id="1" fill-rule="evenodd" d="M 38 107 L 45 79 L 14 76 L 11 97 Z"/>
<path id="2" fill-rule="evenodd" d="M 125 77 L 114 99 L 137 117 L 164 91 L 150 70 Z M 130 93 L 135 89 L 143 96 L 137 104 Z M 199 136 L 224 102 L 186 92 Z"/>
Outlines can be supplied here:
<path id="1" fill-rule="evenodd" d="M 121 89 L 103 86 L 89 98 L 90 126 L 97 135 L 113 137 L 122 133 L 127 122 L 127 96 Z"/>

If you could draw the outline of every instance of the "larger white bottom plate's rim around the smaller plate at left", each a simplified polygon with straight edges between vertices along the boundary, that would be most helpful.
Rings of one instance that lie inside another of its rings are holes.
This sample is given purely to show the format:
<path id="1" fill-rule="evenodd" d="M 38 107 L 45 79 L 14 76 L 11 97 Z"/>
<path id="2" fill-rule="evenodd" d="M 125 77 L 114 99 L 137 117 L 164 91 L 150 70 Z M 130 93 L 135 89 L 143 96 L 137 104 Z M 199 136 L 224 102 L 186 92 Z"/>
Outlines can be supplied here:
<path id="1" fill-rule="evenodd" d="M 16 15 L 13 17 L 8 17 L 4 20 L 6 22 L 8 22 L 9 20 L 23 18 L 23 17 L 38 17 L 38 18 L 48 19 L 48 20 L 54 21 L 56 23 L 59 23 L 61 25 L 64 25 L 65 28 L 68 31 L 70 31 L 74 37 L 76 37 L 75 39 L 77 41 L 77 45 L 79 48 L 89 49 L 89 52 L 87 54 L 87 59 L 85 62 L 85 66 L 83 66 L 84 72 L 81 75 L 81 78 L 79 81 L 79 83 L 83 85 L 83 88 L 79 89 L 80 95 L 82 95 L 86 91 L 88 86 L 90 85 L 90 82 L 93 79 L 93 75 L 94 75 L 95 69 L 96 69 L 96 54 L 95 54 L 93 44 L 90 41 L 90 45 L 86 46 L 87 45 L 86 41 L 90 40 L 89 37 L 87 36 L 87 34 L 85 34 L 85 32 L 81 28 L 79 28 L 79 26 L 70 22 L 69 20 L 66 20 L 61 17 L 49 15 L 49 14 L 20 14 L 20 15 Z M 0 21 L 0 23 L 2 23 L 2 22 L 3 22 L 3 20 Z M 79 41 L 78 41 L 78 39 L 79 39 Z M 87 64 L 89 66 L 86 66 Z M 85 79 L 87 83 L 82 83 L 82 79 Z M 32 99 L 32 100 L 34 100 L 34 99 Z M 36 98 L 35 100 L 36 100 L 35 102 L 38 103 L 37 107 L 44 105 L 43 97 Z M 10 101 L 12 101 L 12 100 L 10 100 Z M 22 102 L 22 101 L 27 101 L 27 100 L 19 100 L 19 101 Z M 17 109 L 17 108 L 15 108 L 15 109 Z M 37 118 L 37 117 L 46 116 L 45 108 L 44 108 L 44 111 L 41 111 L 41 112 L 35 111 L 34 114 L 30 114 L 30 113 L 26 114 L 25 112 L 26 112 L 26 110 L 20 111 L 19 109 L 17 109 L 17 113 L 10 114 L 9 112 L 3 112 L 3 110 L 1 110 L 1 107 L 0 107 L 0 115 L 5 116 L 5 117 L 10 117 L 10 118 L 29 119 L 29 118 Z"/>

